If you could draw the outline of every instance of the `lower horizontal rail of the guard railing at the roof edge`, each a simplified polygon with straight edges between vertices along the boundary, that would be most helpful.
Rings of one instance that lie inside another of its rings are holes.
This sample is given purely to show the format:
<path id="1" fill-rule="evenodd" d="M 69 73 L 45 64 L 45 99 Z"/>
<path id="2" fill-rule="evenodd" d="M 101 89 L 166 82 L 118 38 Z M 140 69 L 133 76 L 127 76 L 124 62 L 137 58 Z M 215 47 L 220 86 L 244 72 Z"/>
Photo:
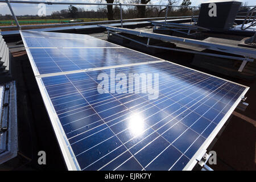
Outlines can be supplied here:
<path id="1" fill-rule="evenodd" d="M 176 19 L 176 18 L 191 18 L 192 16 L 169 16 L 167 19 Z M 135 18 L 135 19 L 123 19 L 123 22 L 131 22 L 131 21 L 144 21 L 144 20 L 159 20 L 164 19 L 165 17 L 156 17 L 156 18 Z M 79 22 L 79 23 L 56 23 L 56 24 L 33 24 L 33 25 L 21 25 L 20 27 L 56 27 L 56 26 L 72 26 L 72 25 L 89 25 L 89 24 L 106 24 L 106 23 L 119 23 L 121 22 L 120 19 L 118 20 L 106 20 L 106 21 L 97 21 L 97 22 Z M 0 26 L 0 29 L 4 28 L 16 28 L 17 26 Z"/>

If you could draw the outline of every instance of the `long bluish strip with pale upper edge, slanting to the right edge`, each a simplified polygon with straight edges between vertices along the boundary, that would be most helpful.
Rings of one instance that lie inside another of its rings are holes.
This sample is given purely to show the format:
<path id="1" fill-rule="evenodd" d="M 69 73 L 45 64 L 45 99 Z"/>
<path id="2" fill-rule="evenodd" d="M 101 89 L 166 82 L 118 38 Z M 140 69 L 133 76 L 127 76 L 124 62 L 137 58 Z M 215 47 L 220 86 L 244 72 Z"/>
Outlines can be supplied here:
<path id="1" fill-rule="evenodd" d="M 166 42 L 180 43 L 180 44 L 186 44 L 186 45 L 191 45 L 191 46 L 196 46 L 196 47 L 201 47 L 206 49 L 212 49 L 214 51 L 233 53 L 235 55 L 241 55 L 241 56 L 251 57 L 253 59 L 256 59 L 256 51 L 255 49 L 252 49 L 252 48 L 231 46 L 231 45 L 220 44 L 220 43 L 210 43 L 202 40 L 179 38 L 176 36 L 142 32 L 137 30 L 131 30 L 128 28 L 117 28 L 117 27 L 110 27 L 110 26 L 104 26 L 104 25 L 98 25 L 98 26 L 104 27 L 107 30 L 123 32 L 123 33 L 142 36 L 146 38 L 158 39 Z"/>

